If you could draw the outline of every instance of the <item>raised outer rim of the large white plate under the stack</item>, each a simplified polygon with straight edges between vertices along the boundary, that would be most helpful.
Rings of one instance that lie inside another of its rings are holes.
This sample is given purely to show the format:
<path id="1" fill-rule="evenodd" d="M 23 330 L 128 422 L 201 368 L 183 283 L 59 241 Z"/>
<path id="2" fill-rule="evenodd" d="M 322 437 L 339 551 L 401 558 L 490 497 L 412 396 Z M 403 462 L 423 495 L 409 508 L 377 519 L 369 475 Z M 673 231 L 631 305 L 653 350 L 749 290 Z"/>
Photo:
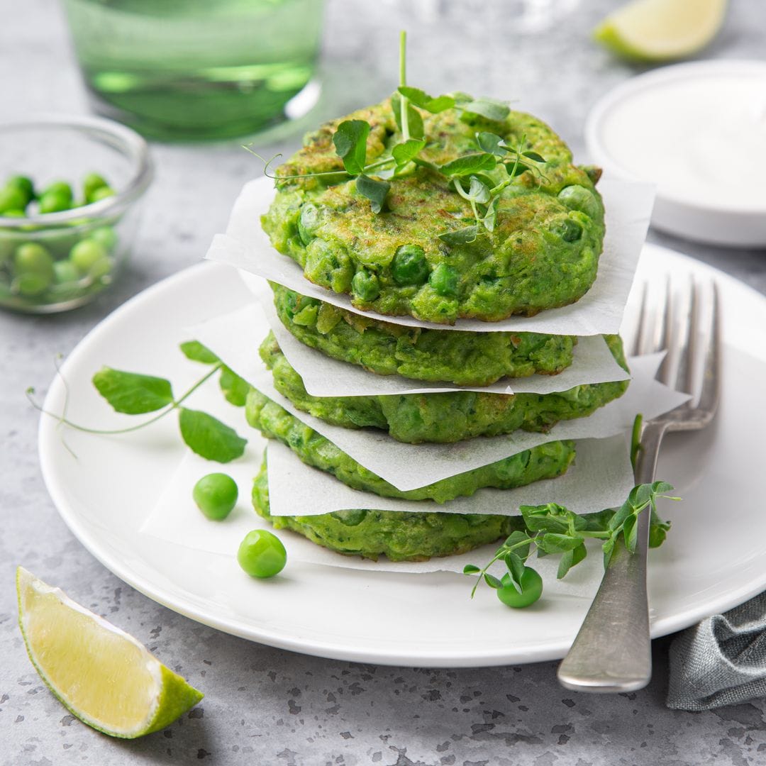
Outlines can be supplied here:
<path id="1" fill-rule="evenodd" d="M 766 296 L 762 295 L 751 286 L 737 280 L 735 277 L 732 277 L 709 264 L 702 263 L 701 261 L 679 253 L 676 250 L 671 250 L 668 247 L 663 247 L 657 244 L 647 243 L 644 245 L 644 250 L 656 251 L 656 254 L 666 254 L 672 260 L 680 260 L 681 263 L 686 264 L 687 267 L 696 273 L 708 273 L 710 276 L 714 276 L 716 280 L 719 280 L 719 282 L 727 283 L 729 289 L 743 291 L 751 297 L 751 300 L 758 300 L 758 302 L 766 307 Z M 77 358 L 79 358 L 80 355 L 85 355 L 87 353 L 88 346 L 90 345 L 90 342 L 93 341 L 93 338 L 100 336 L 103 332 L 107 332 L 110 325 L 118 323 L 123 314 L 132 310 L 133 306 L 136 306 L 136 304 L 142 303 L 145 300 L 150 300 L 155 293 L 162 293 L 162 291 L 167 289 L 170 285 L 177 286 L 177 283 L 182 283 L 185 280 L 195 280 L 198 278 L 198 273 L 205 270 L 224 268 L 226 267 L 222 267 L 220 264 L 211 264 L 203 261 L 169 275 L 169 277 L 165 277 L 165 279 L 160 280 L 158 283 L 147 287 L 146 290 L 137 293 L 135 296 L 127 300 L 126 303 L 123 303 L 112 313 L 104 317 L 90 330 L 90 332 L 87 333 L 86 336 L 83 337 L 83 339 L 80 340 L 80 342 L 77 343 L 67 356 L 64 365 L 62 365 L 62 371 L 66 374 L 67 365 L 76 366 Z M 47 391 L 44 401 L 45 409 L 49 409 L 51 399 L 57 395 L 57 391 L 60 387 L 61 380 L 56 376 Z M 434 649 L 430 650 L 427 655 L 424 655 L 417 651 L 413 652 L 408 650 L 407 647 L 387 647 L 381 652 L 381 650 L 353 647 L 348 643 L 342 645 L 339 644 L 338 641 L 317 640 L 316 638 L 306 640 L 300 636 L 286 635 L 285 633 L 280 632 L 280 630 L 268 630 L 267 627 L 248 627 L 247 625 L 242 624 L 241 621 L 237 621 L 234 618 L 224 617 L 222 614 L 211 615 L 211 613 L 204 608 L 199 608 L 195 604 L 190 603 L 184 594 L 178 593 L 178 591 L 175 593 L 168 591 L 166 588 L 163 588 L 162 585 L 154 584 L 152 581 L 142 576 L 141 573 L 133 571 L 125 561 L 120 561 L 119 558 L 111 555 L 108 546 L 105 546 L 103 542 L 100 542 L 98 535 L 95 532 L 87 529 L 86 524 L 80 519 L 77 509 L 70 506 L 70 503 L 64 496 L 63 487 L 59 486 L 57 481 L 54 480 L 54 453 L 50 447 L 51 438 L 54 437 L 54 434 L 55 421 L 52 418 L 45 417 L 41 414 L 38 424 L 38 457 L 40 460 L 41 473 L 54 507 L 57 509 L 61 519 L 67 525 L 67 528 L 70 529 L 70 532 L 72 532 L 78 542 L 83 545 L 90 555 L 93 555 L 97 561 L 100 561 L 100 563 L 116 575 L 116 577 L 123 580 L 146 597 L 151 598 L 152 601 L 156 601 L 172 611 L 182 614 L 198 623 L 213 627 L 216 630 L 221 630 L 224 633 L 256 641 L 257 643 L 264 643 L 271 647 L 277 647 L 283 650 L 290 650 L 310 656 L 392 666 L 408 665 L 434 668 L 499 666 L 512 663 L 518 664 L 555 660 L 564 656 L 568 650 L 568 645 L 564 645 L 557 640 L 552 640 L 551 642 L 538 645 L 535 647 L 535 650 L 519 651 L 519 649 L 517 649 L 516 652 L 507 648 L 503 650 L 498 650 L 496 648 L 486 650 L 472 649 L 467 652 L 464 649 L 457 652 L 453 649 Z M 305 566 L 316 567 L 322 565 L 306 564 Z M 735 591 L 727 591 L 724 594 L 712 597 L 709 601 L 705 601 L 704 605 L 700 605 L 696 609 L 667 615 L 665 617 L 658 617 L 650 624 L 651 637 L 658 638 L 676 632 L 676 630 L 680 630 L 684 627 L 689 627 L 689 625 L 696 623 L 710 614 L 716 614 L 719 611 L 730 609 L 747 601 L 749 598 L 764 591 L 764 589 L 766 589 L 766 571 L 761 575 L 761 578 L 754 578 L 748 583 L 741 585 L 740 588 L 735 589 Z"/>

